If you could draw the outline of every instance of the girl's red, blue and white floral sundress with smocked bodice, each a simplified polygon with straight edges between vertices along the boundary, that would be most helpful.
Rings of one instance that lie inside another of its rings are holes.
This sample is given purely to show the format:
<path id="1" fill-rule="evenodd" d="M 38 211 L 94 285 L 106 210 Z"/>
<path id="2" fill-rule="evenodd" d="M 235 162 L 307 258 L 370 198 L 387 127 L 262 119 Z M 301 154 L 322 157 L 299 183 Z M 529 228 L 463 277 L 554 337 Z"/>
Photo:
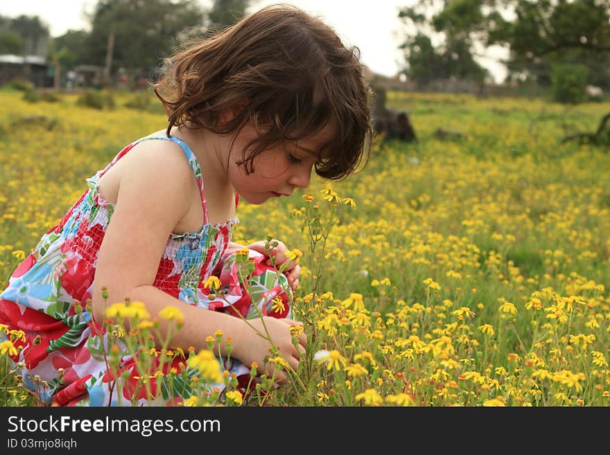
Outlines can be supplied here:
<path id="1" fill-rule="evenodd" d="M 199 232 L 170 235 L 153 285 L 202 310 L 225 311 L 234 316 L 240 312 L 246 318 L 259 312 L 279 318 L 292 317 L 286 277 L 265 266 L 265 257 L 252 250 L 249 256 L 254 262 L 254 272 L 247 282 L 250 292 L 245 292 L 238 280 L 235 262 L 229 260 L 235 253 L 229 249 L 231 228 L 238 219 L 209 224 L 201 168 L 189 146 L 175 136 L 145 136 L 127 145 L 103 170 L 87 179 L 89 188 L 62 220 L 42 236 L 0 294 L 0 324 L 5 329 L 0 330 L 0 341 L 6 339 L 10 330 L 25 333 L 25 341 L 15 342 L 21 349 L 11 359 L 15 365 L 22 365 L 19 373 L 24 384 L 43 403 L 59 406 L 132 404 L 129 387 L 123 387 L 121 400 L 116 391 L 112 394 L 109 387 L 112 381 L 105 362 L 89 351 L 107 346 L 107 334 L 92 321 L 92 315 L 85 310 L 85 302 L 92 298 L 98 251 L 114 212 L 114 204 L 98 193 L 98 180 L 134 145 L 150 139 L 180 145 L 200 186 L 204 213 L 204 226 Z M 237 201 L 236 197 L 236 204 Z M 223 300 L 211 299 L 214 294 L 210 295 L 209 289 L 204 287 L 204 282 L 212 275 L 220 278 Z M 284 305 L 279 305 L 281 310 L 276 305 L 270 311 L 272 299 L 277 301 L 278 296 Z M 82 312 L 75 311 L 75 302 L 80 303 Z M 186 368 L 184 361 L 178 360 L 174 359 L 171 366 Z M 236 373 L 238 378 L 250 374 L 250 366 L 241 364 L 238 359 L 219 357 L 218 362 L 223 370 Z M 63 370 L 61 375 L 58 373 L 60 368 Z M 139 374 L 135 359 L 126 353 L 121 369 L 130 372 L 128 381 L 133 381 Z M 45 384 L 42 389 L 41 381 Z M 223 384 L 217 386 L 221 390 L 224 388 Z M 189 390 L 183 389 L 176 394 L 157 396 L 152 403 L 142 397 L 137 404 L 177 404 L 188 398 Z"/>

